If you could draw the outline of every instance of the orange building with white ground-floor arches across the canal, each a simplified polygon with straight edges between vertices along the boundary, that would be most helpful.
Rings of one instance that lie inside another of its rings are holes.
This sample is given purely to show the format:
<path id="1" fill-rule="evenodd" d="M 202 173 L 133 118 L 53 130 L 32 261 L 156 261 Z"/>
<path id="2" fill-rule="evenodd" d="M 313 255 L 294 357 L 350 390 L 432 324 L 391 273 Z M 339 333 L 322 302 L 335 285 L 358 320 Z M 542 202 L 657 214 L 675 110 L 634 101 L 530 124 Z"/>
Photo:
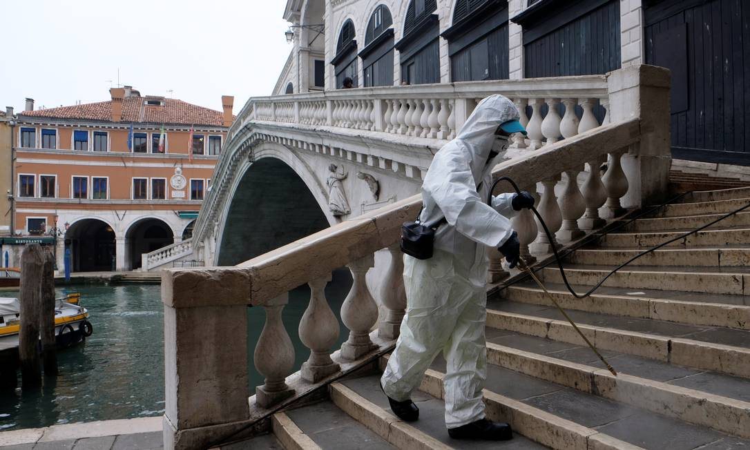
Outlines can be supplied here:
<path id="1" fill-rule="evenodd" d="M 71 272 L 139 269 L 143 254 L 189 239 L 233 120 L 229 96 L 216 111 L 129 86 L 110 94 L 36 111 L 27 99 L 16 116 L 13 232 L 55 245 L 61 271 L 66 253 Z M 21 247 L 3 245 L 11 266 Z"/>

